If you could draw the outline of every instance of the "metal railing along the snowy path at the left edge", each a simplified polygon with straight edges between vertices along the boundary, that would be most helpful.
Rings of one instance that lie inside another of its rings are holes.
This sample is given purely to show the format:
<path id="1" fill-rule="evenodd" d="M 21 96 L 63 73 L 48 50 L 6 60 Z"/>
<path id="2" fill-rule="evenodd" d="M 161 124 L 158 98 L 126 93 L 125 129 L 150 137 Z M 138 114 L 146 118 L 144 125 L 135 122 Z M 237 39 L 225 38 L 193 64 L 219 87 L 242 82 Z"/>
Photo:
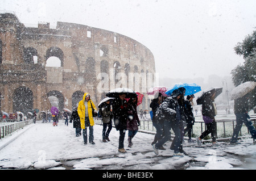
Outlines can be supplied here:
<path id="1" fill-rule="evenodd" d="M 17 131 L 18 129 L 24 128 L 26 125 L 29 125 L 31 123 L 34 123 L 32 119 L 0 125 L 0 139 Z"/>

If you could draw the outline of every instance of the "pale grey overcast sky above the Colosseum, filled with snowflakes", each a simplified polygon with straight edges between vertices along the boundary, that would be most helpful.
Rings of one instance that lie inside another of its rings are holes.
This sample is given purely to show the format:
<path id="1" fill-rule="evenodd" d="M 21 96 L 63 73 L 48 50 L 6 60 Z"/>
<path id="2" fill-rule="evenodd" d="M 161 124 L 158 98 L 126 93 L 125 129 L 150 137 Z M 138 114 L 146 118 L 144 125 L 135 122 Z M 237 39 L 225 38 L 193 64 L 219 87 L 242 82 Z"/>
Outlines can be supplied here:
<path id="1" fill-rule="evenodd" d="M 155 57 L 159 77 L 207 78 L 243 58 L 234 47 L 256 27 L 256 1 L 215 0 L 0 0 L 26 24 L 85 24 L 126 35 Z"/>

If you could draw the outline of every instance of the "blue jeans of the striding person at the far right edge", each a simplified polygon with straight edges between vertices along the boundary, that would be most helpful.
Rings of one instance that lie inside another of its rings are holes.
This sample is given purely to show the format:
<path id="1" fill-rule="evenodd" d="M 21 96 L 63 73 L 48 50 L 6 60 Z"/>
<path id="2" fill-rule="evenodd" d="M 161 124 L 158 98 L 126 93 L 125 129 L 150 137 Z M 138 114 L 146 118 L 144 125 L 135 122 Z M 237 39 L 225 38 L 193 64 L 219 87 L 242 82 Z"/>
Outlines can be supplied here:
<path id="1" fill-rule="evenodd" d="M 255 139 L 256 138 L 256 131 L 253 127 L 253 123 L 250 121 L 250 116 L 247 113 L 236 113 L 236 127 L 234 128 L 234 133 L 231 138 L 231 142 L 236 142 L 238 139 L 238 133 L 240 132 L 243 123 L 245 123 L 246 127 L 248 128 L 251 136 Z"/>

